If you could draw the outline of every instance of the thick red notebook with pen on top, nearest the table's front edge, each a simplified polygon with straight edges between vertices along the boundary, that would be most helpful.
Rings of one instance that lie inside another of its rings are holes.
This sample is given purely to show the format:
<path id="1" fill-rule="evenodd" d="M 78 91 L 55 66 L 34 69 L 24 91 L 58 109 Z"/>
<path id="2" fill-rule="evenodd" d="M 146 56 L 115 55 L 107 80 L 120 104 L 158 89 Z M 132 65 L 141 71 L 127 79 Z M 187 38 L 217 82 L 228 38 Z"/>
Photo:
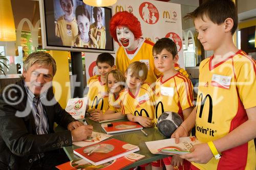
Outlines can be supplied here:
<path id="1" fill-rule="evenodd" d="M 74 154 L 93 165 L 100 165 L 139 150 L 136 145 L 113 138 L 75 149 Z"/>

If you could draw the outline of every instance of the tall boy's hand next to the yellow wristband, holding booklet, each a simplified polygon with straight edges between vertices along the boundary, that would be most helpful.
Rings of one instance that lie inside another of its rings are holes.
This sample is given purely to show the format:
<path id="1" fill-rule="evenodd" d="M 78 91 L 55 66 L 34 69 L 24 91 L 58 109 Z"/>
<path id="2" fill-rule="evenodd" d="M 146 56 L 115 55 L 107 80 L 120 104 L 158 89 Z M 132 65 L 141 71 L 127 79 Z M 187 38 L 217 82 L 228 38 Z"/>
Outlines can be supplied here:
<path id="1" fill-rule="evenodd" d="M 182 159 L 186 159 L 189 162 L 195 163 L 207 163 L 214 156 L 212 155 L 207 143 L 200 143 L 193 146 L 190 149 L 189 154 L 181 155 Z"/>

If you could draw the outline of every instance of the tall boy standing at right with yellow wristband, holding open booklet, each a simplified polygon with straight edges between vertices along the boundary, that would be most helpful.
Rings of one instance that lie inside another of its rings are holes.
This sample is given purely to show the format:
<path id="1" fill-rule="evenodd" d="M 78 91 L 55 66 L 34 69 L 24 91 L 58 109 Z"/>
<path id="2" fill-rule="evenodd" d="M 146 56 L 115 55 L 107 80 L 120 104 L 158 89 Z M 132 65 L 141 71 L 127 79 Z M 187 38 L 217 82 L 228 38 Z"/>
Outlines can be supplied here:
<path id="1" fill-rule="evenodd" d="M 231 0 L 209 0 L 187 17 L 214 55 L 200 63 L 197 107 L 172 136 L 179 142 L 196 126 L 202 143 L 180 157 L 191 169 L 255 169 L 256 65 L 233 44 L 237 8 Z"/>

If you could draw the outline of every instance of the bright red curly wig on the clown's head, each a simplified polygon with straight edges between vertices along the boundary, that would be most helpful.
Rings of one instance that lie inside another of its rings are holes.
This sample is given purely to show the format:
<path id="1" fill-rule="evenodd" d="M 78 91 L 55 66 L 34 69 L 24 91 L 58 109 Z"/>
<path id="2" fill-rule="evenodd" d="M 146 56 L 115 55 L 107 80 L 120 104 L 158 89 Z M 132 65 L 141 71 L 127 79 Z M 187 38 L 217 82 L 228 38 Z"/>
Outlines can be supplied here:
<path id="1" fill-rule="evenodd" d="M 110 20 L 110 34 L 117 42 L 116 29 L 120 26 L 129 28 L 133 32 L 135 39 L 142 36 L 140 21 L 130 12 L 117 12 Z"/>

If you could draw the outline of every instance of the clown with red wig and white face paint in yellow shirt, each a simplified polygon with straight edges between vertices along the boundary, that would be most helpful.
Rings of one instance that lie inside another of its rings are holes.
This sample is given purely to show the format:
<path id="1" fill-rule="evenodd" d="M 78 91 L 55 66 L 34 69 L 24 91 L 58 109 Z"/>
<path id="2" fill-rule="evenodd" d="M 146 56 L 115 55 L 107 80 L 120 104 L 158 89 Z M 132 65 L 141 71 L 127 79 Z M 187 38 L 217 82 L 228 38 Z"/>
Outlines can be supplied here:
<path id="1" fill-rule="evenodd" d="M 139 20 L 127 11 L 117 12 L 110 21 L 110 33 L 119 48 L 116 53 L 116 68 L 123 73 L 130 63 L 141 61 L 148 66 L 148 75 L 146 82 L 155 83 L 157 78 L 161 76 L 154 65 L 152 48 L 154 42 L 141 38 L 141 26 Z M 179 65 L 175 65 L 183 75 L 186 75 L 184 69 L 180 69 Z M 188 75 L 186 75 L 188 77 Z"/>

